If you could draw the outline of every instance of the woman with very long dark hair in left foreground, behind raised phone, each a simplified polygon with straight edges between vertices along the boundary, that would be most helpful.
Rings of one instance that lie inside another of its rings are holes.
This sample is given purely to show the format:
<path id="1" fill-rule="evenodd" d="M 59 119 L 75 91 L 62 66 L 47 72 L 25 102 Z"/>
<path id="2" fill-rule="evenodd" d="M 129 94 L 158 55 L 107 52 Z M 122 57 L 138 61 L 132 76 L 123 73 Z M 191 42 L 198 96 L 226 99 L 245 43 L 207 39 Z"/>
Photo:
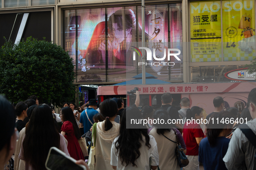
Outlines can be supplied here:
<path id="1" fill-rule="evenodd" d="M 51 147 L 56 147 L 69 156 L 65 139 L 56 129 L 51 108 L 46 104 L 39 104 L 26 126 L 19 159 L 26 162 L 26 170 L 45 170 L 45 161 Z"/>

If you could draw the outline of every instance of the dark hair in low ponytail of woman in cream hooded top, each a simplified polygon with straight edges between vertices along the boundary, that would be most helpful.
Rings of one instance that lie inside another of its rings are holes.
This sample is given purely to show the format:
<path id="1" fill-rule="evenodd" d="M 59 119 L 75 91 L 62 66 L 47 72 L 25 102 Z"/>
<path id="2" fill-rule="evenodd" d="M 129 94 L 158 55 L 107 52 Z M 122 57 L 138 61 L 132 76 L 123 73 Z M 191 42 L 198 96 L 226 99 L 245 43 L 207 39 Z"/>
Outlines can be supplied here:
<path id="1" fill-rule="evenodd" d="M 113 99 L 106 99 L 100 105 L 100 114 L 106 117 L 104 130 L 108 131 L 113 127 L 113 124 L 110 122 L 109 118 L 116 116 L 118 112 L 117 103 Z"/>

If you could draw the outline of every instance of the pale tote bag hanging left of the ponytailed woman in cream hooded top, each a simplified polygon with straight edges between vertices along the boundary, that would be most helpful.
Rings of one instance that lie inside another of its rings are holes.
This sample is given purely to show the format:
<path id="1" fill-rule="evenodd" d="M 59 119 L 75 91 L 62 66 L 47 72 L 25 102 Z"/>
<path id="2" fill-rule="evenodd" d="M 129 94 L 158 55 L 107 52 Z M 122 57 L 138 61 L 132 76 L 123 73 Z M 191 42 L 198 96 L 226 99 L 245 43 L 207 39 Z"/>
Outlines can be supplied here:
<path id="1" fill-rule="evenodd" d="M 91 136 L 91 150 L 89 154 L 88 167 L 90 170 L 95 170 L 95 146 L 96 146 L 96 134 L 97 134 L 97 123 L 92 126 L 92 136 Z"/>

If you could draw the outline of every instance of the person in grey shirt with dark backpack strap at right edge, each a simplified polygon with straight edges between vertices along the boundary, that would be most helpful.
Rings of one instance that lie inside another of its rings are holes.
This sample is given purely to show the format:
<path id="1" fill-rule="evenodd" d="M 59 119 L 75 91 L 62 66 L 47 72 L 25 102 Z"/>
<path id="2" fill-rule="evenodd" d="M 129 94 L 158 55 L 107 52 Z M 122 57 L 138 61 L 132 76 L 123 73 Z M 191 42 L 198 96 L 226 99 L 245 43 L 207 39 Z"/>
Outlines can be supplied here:
<path id="1" fill-rule="evenodd" d="M 256 169 L 256 88 L 248 95 L 249 110 L 253 120 L 237 126 L 223 161 L 228 170 Z"/>

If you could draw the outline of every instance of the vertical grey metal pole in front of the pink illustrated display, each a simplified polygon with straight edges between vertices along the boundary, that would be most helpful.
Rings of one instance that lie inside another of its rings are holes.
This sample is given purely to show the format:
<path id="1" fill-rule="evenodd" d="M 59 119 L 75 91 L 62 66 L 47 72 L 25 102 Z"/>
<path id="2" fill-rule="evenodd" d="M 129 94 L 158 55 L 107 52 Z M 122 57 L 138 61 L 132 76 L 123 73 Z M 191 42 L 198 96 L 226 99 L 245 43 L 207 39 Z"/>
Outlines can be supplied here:
<path id="1" fill-rule="evenodd" d="M 141 18 L 142 18 L 142 47 L 145 47 L 145 3 L 141 1 Z M 142 50 L 142 62 L 146 63 L 145 50 Z M 142 84 L 146 84 L 146 66 L 142 65 Z"/>

